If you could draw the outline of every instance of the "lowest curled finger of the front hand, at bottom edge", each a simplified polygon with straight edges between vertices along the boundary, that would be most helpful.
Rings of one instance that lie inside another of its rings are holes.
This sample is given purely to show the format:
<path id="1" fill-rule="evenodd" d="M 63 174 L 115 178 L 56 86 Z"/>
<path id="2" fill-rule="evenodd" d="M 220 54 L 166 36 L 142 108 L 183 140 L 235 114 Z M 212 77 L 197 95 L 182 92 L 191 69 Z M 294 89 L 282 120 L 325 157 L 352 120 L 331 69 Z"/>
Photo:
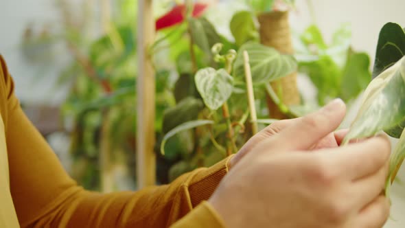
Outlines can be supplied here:
<path id="1" fill-rule="evenodd" d="M 372 203 L 364 207 L 354 216 L 350 227 L 381 228 L 389 218 L 390 204 L 385 196 L 378 196 Z"/>

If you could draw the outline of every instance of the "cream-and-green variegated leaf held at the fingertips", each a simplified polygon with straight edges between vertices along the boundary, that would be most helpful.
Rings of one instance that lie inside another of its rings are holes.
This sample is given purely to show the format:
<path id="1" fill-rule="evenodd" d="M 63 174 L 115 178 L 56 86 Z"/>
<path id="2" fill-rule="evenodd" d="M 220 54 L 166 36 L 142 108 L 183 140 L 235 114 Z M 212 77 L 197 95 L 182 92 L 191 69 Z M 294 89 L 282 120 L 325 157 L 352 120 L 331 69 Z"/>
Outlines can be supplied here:
<path id="1" fill-rule="evenodd" d="M 359 139 L 402 124 L 405 117 L 405 57 L 371 81 L 347 136 Z M 400 132 L 391 132 L 399 137 Z"/>

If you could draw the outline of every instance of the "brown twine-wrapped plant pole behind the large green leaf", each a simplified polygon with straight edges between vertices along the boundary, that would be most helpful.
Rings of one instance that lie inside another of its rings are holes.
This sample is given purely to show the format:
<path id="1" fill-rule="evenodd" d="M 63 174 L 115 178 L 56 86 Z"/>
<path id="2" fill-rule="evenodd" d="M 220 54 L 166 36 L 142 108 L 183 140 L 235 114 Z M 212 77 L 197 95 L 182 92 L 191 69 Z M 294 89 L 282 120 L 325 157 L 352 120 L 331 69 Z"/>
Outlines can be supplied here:
<path id="1" fill-rule="evenodd" d="M 258 16 L 260 41 L 263 45 L 274 47 L 281 54 L 293 54 L 288 12 L 266 12 Z M 300 95 L 297 87 L 297 72 L 271 83 L 281 102 L 287 106 L 299 104 Z M 270 116 L 275 119 L 286 119 L 277 104 L 267 96 Z"/>

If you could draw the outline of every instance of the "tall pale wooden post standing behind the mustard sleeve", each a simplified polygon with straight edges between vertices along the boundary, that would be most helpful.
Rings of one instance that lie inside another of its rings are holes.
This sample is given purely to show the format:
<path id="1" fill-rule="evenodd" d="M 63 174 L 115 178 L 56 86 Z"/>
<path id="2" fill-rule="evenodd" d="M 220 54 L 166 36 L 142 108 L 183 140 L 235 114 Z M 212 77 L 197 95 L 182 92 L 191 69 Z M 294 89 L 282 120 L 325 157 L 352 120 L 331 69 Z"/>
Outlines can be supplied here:
<path id="1" fill-rule="evenodd" d="M 154 155 L 155 79 L 148 47 L 154 40 L 152 0 L 138 1 L 138 78 L 137 78 L 137 185 L 156 183 Z"/>

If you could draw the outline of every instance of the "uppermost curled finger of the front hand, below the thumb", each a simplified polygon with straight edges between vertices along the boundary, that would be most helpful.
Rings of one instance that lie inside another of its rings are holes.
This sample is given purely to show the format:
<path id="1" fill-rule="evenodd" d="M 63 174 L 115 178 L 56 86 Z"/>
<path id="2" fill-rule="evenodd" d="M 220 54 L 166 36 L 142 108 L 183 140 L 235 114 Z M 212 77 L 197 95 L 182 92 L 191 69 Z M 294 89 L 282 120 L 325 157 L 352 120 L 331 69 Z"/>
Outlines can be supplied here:
<path id="1" fill-rule="evenodd" d="M 384 135 L 373 137 L 348 146 L 329 149 L 332 153 L 323 154 L 323 162 L 335 168 L 345 179 L 357 181 L 375 174 L 386 165 L 391 152 L 389 139 Z"/>

